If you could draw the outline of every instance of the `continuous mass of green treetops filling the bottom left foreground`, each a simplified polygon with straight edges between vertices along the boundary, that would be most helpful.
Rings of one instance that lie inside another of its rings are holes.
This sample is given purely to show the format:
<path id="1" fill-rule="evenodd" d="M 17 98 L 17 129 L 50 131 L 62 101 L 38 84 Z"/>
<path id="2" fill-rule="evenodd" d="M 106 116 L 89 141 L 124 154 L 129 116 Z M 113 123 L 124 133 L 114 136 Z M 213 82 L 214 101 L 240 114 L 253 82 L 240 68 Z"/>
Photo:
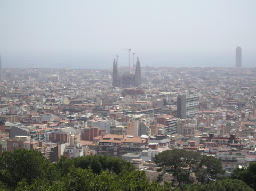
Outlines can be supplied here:
<path id="1" fill-rule="evenodd" d="M 170 190 L 170 184 L 149 181 L 145 172 L 135 170 L 116 157 L 93 155 L 50 163 L 40 152 L 14 150 L 0 157 L 1 190 Z"/>

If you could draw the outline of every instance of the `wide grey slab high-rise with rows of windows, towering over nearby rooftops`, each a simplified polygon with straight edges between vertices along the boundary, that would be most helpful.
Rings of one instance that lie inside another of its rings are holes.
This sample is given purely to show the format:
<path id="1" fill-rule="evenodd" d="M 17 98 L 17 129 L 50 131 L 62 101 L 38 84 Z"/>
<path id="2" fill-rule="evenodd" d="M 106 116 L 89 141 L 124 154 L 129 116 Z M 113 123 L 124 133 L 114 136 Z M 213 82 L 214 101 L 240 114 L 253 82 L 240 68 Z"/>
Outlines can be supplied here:
<path id="1" fill-rule="evenodd" d="M 177 114 L 187 119 L 199 114 L 199 94 L 185 94 L 177 97 Z"/>

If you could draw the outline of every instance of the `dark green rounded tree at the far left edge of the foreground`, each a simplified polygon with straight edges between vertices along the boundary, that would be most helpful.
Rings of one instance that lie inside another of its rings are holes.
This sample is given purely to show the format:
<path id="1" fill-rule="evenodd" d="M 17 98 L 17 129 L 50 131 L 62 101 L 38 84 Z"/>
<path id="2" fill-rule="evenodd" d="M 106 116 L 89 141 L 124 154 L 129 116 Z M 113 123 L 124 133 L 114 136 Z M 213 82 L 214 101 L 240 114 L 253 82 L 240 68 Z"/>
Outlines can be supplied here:
<path id="1" fill-rule="evenodd" d="M 23 179 L 31 184 L 34 179 L 44 177 L 49 164 L 50 161 L 35 150 L 4 151 L 0 157 L 0 180 L 13 188 Z"/>

